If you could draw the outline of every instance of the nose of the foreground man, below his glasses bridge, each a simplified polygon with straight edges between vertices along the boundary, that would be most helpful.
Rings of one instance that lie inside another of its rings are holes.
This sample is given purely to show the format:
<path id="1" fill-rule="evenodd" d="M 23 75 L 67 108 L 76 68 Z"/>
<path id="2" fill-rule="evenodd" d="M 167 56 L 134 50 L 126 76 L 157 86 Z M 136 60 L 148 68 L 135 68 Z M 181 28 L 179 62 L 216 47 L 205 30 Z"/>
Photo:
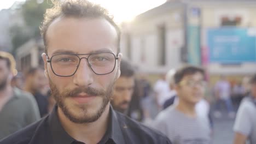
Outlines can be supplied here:
<path id="1" fill-rule="evenodd" d="M 74 74 L 73 82 L 75 85 L 81 87 L 87 87 L 92 84 L 94 81 L 92 70 L 89 67 L 89 64 L 87 62 L 86 58 L 82 58 L 80 60 L 80 64 L 78 65 L 78 69 Z"/>

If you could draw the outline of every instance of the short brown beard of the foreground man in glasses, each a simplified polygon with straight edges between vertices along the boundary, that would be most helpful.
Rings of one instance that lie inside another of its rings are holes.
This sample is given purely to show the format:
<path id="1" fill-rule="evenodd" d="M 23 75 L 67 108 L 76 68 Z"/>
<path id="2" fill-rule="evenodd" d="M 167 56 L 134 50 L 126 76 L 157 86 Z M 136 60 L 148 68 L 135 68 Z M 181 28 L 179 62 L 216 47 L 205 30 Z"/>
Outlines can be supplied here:
<path id="1" fill-rule="evenodd" d="M 92 87 L 78 87 L 74 89 L 65 89 L 65 91 L 60 92 L 59 89 L 57 89 L 56 85 L 49 79 L 50 83 L 50 89 L 51 89 L 51 95 L 56 100 L 57 106 L 62 110 L 64 115 L 73 123 L 92 123 L 97 121 L 98 118 L 101 117 L 102 113 L 106 109 L 106 106 L 108 105 L 110 98 L 113 94 L 113 85 L 114 82 L 111 82 L 109 86 L 107 87 L 107 90 L 104 91 L 104 89 L 96 89 Z M 96 95 L 95 97 L 101 97 L 102 103 L 100 105 L 100 108 L 96 110 L 95 113 L 92 113 L 91 115 L 88 115 L 91 111 L 89 111 L 90 105 L 89 104 L 83 104 L 83 105 L 75 105 L 78 107 L 79 116 L 75 115 L 75 112 L 73 106 L 68 105 L 65 103 L 66 98 L 72 98 L 78 95 L 79 93 L 86 93 L 88 95 Z"/>

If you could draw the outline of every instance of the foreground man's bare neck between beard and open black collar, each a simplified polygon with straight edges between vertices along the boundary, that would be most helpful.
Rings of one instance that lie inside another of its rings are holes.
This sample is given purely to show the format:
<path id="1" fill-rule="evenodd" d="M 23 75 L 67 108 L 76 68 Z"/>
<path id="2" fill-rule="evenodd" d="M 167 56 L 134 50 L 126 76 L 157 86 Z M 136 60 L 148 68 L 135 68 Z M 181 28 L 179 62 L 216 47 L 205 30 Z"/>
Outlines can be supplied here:
<path id="1" fill-rule="evenodd" d="M 98 143 L 107 131 L 109 121 L 109 107 L 102 113 L 101 117 L 97 121 L 92 123 L 78 124 L 71 122 L 58 107 L 57 112 L 62 124 L 62 127 L 66 132 L 75 140 L 84 143 Z"/>

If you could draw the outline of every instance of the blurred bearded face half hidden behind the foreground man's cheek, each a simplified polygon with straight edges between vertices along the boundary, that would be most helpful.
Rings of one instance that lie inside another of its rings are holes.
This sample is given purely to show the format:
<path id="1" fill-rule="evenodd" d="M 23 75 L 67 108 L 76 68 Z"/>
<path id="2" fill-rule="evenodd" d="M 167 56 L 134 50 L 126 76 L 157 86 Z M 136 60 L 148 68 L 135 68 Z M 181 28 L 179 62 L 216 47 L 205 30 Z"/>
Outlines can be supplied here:
<path id="1" fill-rule="evenodd" d="M 121 76 L 115 82 L 114 93 L 111 104 L 115 110 L 124 113 L 131 101 L 133 89 L 135 87 L 135 79 L 133 76 Z"/>

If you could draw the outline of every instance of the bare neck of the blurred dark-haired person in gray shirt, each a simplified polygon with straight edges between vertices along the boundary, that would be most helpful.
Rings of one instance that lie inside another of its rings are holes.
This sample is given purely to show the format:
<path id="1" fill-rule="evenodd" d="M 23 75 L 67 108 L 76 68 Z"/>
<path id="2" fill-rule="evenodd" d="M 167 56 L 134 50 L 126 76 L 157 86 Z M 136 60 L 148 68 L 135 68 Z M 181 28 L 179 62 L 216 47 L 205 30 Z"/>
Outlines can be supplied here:
<path id="1" fill-rule="evenodd" d="M 188 117 L 196 117 L 195 104 L 187 103 L 186 101 L 179 99 L 176 109 Z"/>

